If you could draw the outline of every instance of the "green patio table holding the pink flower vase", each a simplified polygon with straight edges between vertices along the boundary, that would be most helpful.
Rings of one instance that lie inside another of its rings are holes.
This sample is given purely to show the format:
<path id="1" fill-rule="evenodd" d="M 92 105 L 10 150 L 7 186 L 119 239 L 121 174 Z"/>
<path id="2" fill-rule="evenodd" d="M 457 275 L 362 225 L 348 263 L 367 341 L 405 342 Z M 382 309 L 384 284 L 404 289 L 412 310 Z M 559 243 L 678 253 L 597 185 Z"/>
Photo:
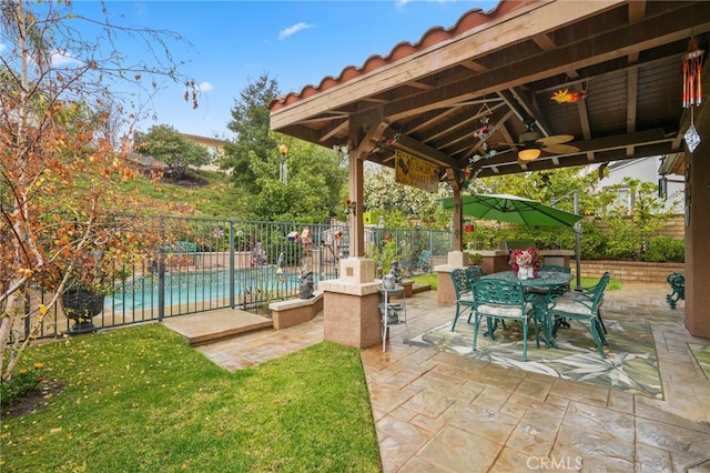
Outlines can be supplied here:
<path id="1" fill-rule="evenodd" d="M 572 274 L 557 271 L 538 271 L 537 278 L 518 279 L 513 271 L 501 271 L 498 273 L 487 274 L 481 279 L 495 279 L 499 281 L 519 282 L 523 289 L 541 288 L 547 292 L 526 291 L 526 299 L 535 305 L 535 319 L 542 324 L 542 333 L 545 333 L 545 346 L 556 346 L 552 341 L 552 321 L 549 320 L 547 313 L 547 304 L 550 301 L 552 289 L 566 286 L 572 280 Z"/>

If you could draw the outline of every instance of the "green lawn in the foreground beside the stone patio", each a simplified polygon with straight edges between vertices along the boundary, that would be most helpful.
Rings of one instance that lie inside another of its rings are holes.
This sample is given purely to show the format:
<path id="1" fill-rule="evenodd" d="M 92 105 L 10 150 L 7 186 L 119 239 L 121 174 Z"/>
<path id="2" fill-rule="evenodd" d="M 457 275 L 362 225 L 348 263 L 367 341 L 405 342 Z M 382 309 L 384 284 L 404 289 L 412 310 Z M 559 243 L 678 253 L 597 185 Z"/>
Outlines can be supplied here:
<path id="1" fill-rule="evenodd" d="M 64 389 L 2 421 L 3 472 L 378 472 L 357 349 L 230 373 L 160 324 L 33 346 Z"/>

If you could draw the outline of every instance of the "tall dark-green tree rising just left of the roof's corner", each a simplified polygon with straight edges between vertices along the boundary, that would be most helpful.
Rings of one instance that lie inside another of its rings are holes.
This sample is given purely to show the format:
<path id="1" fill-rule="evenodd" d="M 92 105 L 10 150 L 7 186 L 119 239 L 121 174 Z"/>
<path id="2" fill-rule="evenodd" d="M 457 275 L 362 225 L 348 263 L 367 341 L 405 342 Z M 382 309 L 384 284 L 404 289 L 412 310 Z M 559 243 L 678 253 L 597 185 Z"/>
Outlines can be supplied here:
<path id="1" fill-rule="evenodd" d="M 268 102 L 278 95 L 278 85 L 267 74 L 262 74 L 241 92 L 234 101 L 232 121 L 227 129 L 234 132 L 234 139 L 224 145 L 224 159 L 221 168 L 232 170 L 235 185 L 251 193 L 258 192 L 253 162 L 266 162 L 273 159 L 281 144 L 270 133 Z"/>

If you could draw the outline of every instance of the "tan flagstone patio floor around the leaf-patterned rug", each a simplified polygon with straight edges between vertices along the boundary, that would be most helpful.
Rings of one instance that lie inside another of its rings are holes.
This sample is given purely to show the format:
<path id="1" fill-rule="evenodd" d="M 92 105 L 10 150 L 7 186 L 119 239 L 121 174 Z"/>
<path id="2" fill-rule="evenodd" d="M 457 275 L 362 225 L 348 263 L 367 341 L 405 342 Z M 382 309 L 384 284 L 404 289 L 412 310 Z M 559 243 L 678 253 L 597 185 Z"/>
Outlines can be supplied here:
<path id="1" fill-rule="evenodd" d="M 362 352 L 383 470 L 710 472 L 710 380 L 688 346 L 710 340 L 688 334 L 668 292 L 627 283 L 605 294 L 607 311 L 650 322 L 663 400 L 408 345 L 454 308 L 435 291 L 407 299 L 408 323 L 390 328 L 386 352 Z M 321 342 L 322 321 L 196 350 L 239 370 Z"/>

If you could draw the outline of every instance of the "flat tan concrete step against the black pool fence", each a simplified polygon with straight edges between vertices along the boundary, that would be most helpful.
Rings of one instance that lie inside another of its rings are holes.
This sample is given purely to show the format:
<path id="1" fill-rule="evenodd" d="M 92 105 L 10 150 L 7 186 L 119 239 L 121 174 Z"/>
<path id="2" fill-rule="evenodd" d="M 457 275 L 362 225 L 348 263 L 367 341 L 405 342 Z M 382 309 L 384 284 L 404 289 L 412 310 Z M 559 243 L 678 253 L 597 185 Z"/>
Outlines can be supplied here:
<path id="1" fill-rule="evenodd" d="M 219 309 L 168 318 L 163 323 L 166 328 L 181 334 L 191 346 L 257 330 L 273 329 L 271 319 L 239 309 Z"/>

